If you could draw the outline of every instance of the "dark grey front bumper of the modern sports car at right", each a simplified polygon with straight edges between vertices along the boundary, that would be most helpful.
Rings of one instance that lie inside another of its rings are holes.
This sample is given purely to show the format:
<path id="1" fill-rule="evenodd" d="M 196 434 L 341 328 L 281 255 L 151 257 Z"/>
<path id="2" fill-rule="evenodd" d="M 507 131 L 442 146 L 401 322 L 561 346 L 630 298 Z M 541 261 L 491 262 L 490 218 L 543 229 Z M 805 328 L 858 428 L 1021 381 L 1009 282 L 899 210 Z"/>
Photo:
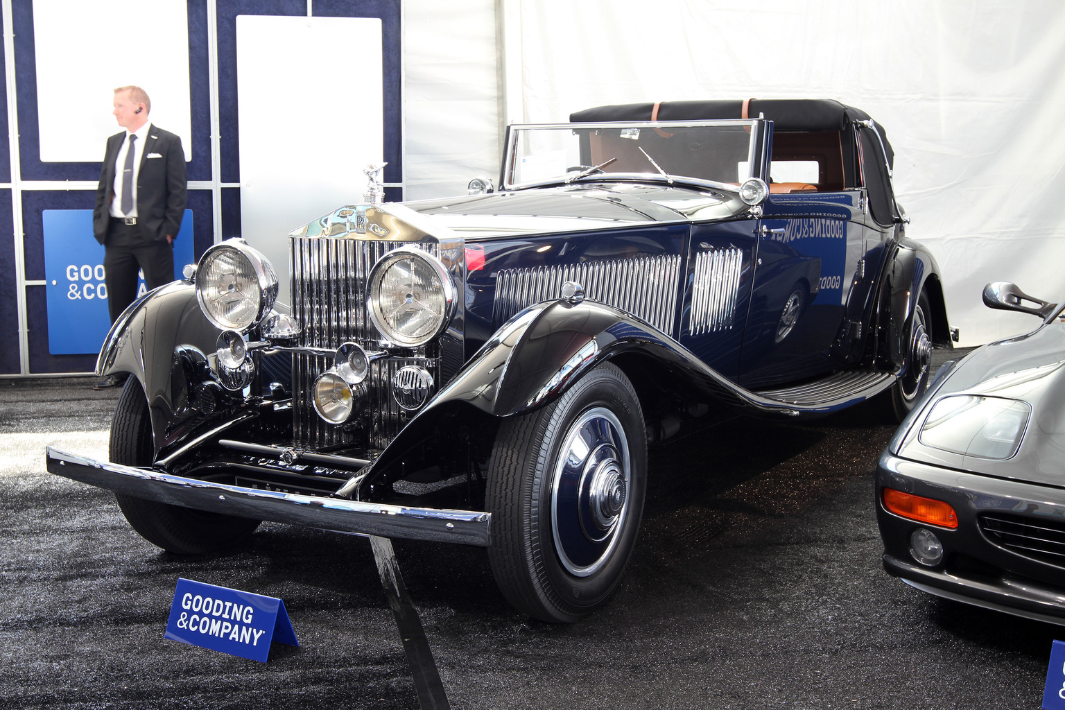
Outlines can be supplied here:
<path id="1" fill-rule="evenodd" d="M 948 530 L 906 519 L 884 508 L 883 489 L 944 500 L 957 513 Z M 884 568 L 929 594 L 1042 622 L 1065 625 L 1065 566 L 1047 564 L 993 543 L 978 516 L 1009 511 L 1065 517 L 1065 491 L 953 470 L 885 452 L 876 470 L 876 522 Z M 931 528 L 945 562 L 927 567 L 908 551 L 911 533 Z"/>

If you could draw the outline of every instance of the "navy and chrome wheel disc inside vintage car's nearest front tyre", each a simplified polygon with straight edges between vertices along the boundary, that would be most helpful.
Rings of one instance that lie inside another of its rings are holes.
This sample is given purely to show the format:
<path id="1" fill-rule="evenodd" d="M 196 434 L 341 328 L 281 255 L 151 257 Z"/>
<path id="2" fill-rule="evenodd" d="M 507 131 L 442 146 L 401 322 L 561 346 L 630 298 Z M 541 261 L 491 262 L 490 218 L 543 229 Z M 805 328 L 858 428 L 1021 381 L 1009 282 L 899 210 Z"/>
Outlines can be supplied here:
<path id="1" fill-rule="evenodd" d="M 566 432 L 552 481 L 555 550 L 576 577 L 610 559 L 628 515 L 628 441 L 618 417 L 597 407 Z"/>

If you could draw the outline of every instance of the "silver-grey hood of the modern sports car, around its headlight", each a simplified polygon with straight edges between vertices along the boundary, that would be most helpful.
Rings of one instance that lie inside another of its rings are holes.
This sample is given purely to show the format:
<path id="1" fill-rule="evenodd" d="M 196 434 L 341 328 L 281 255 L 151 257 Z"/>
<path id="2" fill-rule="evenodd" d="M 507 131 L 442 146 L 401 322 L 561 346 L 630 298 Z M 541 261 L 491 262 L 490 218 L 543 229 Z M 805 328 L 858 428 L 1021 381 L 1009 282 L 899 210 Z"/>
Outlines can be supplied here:
<path id="1" fill-rule="evenodd" d="M 960 394 L 1016 399 L 1031 407 L 1015 456 L 992 460 L 945 451 L 921 441 L 935 403 Z M 898 450 L 902 458 L 1065 488 L 1065 323 L 1054 318 L 1031 333 L 972 351 L 925 400 L 912 423 Z"/>

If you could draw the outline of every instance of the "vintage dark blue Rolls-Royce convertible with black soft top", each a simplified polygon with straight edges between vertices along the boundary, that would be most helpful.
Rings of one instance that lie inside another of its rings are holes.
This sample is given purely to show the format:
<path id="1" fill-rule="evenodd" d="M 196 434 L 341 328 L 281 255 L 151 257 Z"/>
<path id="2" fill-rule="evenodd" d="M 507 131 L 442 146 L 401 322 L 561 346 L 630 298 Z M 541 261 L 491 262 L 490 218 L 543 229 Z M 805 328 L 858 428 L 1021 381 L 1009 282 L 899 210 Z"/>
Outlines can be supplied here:
<path id="1" fill-rule="evenodd" d="M 111 461 L 49 470 L 175 552 L 263 519 L 485 546 L 517 608 L 576 621 L 622 577 L 649 444 L 924 392 L 951 332 L 892 159 L 829 100 L 512 126 L 498 188 L 293 231 L 288 304 L 240 240 L 133 303 L 97 364 L 130 374 Z"/>

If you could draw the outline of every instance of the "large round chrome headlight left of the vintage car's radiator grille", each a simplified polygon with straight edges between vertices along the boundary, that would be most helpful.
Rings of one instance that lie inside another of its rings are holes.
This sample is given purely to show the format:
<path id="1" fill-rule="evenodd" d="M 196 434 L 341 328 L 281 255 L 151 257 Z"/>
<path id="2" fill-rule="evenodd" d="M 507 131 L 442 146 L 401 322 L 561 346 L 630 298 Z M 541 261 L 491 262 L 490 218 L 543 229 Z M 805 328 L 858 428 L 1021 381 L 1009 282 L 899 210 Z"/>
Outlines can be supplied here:
<path id="1" fill-rule="evenodd" d="M 274 306 L 277 273 L 266 257 L 243 240 L 227 240 L 200 258 L 196 298 L 215 327 L 244 332 Z"/>

